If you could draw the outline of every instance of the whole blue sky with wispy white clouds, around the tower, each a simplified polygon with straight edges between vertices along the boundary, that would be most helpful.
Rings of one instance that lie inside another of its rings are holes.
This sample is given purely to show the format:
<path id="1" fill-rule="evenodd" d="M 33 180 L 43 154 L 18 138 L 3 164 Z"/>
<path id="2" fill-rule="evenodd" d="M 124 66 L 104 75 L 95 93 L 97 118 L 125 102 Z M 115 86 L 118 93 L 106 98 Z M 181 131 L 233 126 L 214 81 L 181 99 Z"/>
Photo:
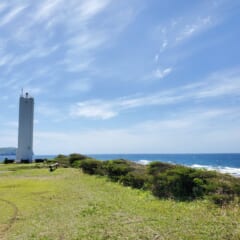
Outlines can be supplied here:
<path id="1" fill-rule="evenodd" d="M 2 0 L 0 146 L 21 88 L 34 152 L 240 152 L 240 2 Z"/>

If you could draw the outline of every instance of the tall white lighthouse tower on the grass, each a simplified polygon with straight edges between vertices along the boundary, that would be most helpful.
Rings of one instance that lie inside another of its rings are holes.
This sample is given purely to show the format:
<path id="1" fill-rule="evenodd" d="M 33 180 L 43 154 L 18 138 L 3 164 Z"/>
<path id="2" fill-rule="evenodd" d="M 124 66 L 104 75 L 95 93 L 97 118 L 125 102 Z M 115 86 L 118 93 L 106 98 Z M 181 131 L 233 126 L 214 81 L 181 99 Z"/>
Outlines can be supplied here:
<path id="1" fill-rule="evenodd" d="M 22 94 L 19 99 L 18 149 L 16 161 L 32 162 L 33 159 L 34 99 Z"/>

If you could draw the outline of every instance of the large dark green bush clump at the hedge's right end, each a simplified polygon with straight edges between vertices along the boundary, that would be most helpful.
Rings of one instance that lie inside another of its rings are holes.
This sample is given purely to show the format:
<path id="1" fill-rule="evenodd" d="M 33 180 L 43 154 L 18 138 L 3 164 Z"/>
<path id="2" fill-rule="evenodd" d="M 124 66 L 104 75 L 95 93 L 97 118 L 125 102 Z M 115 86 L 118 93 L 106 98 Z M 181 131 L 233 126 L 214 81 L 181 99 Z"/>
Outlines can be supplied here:
<path id="1" fill-rule="evenodd" d="M 160 198 L 194 200 L 209 198 L 218 205 L 232 202 L 240 196 L 240 179 L 214 171 L 183 166 L 153 177 L 152 192 Z"/>

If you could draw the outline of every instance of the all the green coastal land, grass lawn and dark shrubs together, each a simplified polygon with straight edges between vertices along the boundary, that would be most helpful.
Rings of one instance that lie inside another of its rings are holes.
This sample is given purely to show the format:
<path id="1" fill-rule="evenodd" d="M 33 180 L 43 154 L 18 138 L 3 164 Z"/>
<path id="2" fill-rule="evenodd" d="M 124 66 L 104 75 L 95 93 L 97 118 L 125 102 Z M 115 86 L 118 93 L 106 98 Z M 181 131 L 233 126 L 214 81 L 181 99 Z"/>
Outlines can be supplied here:
<path id="1" fill-rule="evenodd" d="M 0 164 L 0 239 L 234 240 L 238 196 L 237 178 L 160 162 Z"/>

